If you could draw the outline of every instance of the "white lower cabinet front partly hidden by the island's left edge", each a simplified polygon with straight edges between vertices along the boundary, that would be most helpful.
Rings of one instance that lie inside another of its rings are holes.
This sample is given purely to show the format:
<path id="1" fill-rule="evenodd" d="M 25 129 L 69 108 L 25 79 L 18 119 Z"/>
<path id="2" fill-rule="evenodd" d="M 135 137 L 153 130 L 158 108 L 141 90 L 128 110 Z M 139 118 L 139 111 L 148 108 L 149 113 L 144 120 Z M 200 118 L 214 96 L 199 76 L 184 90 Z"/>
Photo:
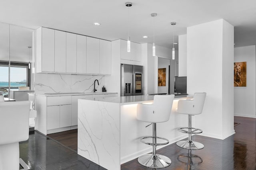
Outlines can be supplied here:
<path id="1" fill-rule="evenodd" d="M 72 96 L 72 126 L 77 125 L 78 121 L 78 99 L 91 99 L 92 95 L 79 95 L 79 96 Z"/>

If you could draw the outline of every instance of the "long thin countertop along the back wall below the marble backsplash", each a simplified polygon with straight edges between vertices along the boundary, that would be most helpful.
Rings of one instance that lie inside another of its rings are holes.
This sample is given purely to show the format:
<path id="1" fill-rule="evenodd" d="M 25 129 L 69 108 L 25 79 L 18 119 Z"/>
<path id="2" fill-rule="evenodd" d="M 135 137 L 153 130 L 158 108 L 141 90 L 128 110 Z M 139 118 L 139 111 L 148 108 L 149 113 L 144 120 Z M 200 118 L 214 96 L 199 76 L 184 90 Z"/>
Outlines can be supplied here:
<path id="1" fill-rule="evenodd" d="M 117 94 L 117 92 L 60 92 L 60 93 L 44 93 L 44 94 L 35 94 L 37 96 L 78 96 L 78 95 L 97 95 L 97 94 Z"/>

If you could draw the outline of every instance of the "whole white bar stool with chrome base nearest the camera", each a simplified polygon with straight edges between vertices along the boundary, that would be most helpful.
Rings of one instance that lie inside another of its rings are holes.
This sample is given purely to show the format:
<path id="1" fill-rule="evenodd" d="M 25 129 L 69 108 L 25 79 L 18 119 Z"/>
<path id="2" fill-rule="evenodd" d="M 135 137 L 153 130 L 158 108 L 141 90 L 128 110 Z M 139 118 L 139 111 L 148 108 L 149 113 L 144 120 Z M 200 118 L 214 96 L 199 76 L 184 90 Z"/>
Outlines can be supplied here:
<path id="1" fill-rule="evenodd" d="M 152 136 L 142 137 L 140 141 L 147 145 L 152 145 L 152 154 L 145 154 L 138 158 L 138 162 L 149 168 L 164 168 L 171 164 L 170 158 L 156 154 L 157 145 L 166 145 L 168 139 L 156 136 L 156 123 L 166 122 L 170 119 L 172 110 L 172 102 L 174 95 L 155 95 L 153 104 L 138 104 L 137 119 L 140 121 L 150 122 L 152 124 Z M 143 141 L 144 139 L 152 139 L 152 143 Z M 163 139 L 165 143 L 156 143 L 156 139 Z"/>

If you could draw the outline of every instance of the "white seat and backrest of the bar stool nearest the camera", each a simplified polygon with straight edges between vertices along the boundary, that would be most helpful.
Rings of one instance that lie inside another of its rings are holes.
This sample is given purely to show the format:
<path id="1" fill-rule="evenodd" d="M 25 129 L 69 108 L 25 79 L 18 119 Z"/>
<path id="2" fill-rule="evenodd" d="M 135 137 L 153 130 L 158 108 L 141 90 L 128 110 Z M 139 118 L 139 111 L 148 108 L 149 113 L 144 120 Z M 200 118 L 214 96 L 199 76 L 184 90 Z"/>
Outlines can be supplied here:
<path id="1" fill-rule="evenodd" d="M 174 94 L 155 95 L 153 104 L 138 104 L 137 119 L 151 123 L 165 122 L 170 119 Z"/>

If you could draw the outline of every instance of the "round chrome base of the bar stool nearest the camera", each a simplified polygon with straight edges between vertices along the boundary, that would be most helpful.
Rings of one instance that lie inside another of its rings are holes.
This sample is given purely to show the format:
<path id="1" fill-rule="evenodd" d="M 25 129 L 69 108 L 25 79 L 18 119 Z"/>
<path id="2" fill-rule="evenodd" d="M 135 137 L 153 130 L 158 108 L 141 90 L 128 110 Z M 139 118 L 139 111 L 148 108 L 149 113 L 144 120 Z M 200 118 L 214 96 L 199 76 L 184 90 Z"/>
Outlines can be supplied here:
<path id="1" fill-rule="evenodd" d="M 168 157 L 161 154 L 144 154 L 138 158 L 138 162 L 148 168 L 165 168 L 172 163 Z"/>

